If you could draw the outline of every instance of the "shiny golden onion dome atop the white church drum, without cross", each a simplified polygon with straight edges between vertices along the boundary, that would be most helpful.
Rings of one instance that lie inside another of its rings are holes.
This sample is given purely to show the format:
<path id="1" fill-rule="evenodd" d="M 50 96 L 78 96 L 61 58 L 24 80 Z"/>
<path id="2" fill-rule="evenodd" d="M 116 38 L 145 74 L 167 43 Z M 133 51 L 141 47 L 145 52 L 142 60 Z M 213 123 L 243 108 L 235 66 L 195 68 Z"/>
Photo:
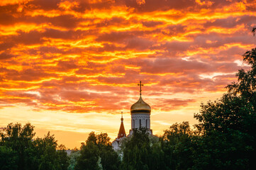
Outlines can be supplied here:
<path id="1" fill-rule="evenodd" d="M 130 106 L 130 113 L 151 113 L 151 108 L 140 96 L 139 100 Z"/>

